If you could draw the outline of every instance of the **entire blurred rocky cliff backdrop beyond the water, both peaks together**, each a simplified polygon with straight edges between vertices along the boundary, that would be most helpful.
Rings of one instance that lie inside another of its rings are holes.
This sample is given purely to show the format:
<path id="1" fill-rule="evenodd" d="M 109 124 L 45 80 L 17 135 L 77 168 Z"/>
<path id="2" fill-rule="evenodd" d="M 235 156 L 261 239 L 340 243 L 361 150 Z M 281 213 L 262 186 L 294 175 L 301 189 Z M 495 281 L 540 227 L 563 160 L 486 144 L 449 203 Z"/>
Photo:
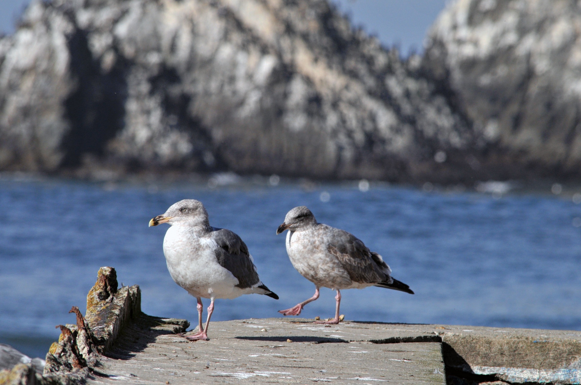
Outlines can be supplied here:
<path id="1" fill-rule="evenodd" d="M 458 0 L 401 60 L 327 0 L 53 0 L 0 39 L 0 170 L 579 176 L 581 11 Z"/>

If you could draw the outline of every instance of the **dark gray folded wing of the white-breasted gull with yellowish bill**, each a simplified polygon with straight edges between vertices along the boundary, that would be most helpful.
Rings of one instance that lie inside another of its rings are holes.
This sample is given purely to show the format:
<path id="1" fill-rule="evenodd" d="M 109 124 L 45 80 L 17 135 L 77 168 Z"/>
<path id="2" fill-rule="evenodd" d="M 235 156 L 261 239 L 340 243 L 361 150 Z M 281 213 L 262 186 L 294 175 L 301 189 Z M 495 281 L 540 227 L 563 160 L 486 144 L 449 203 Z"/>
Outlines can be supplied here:
<path id="1" fill-rule="evenodd" d="M 225 228 L 212 227 L 210 237 L 216 241 L 216 259 L 236 279 L 238 288 L 246 289 L 260 282 L 256 267 L 250 259 L 248 247 L 238 234 Z"/>

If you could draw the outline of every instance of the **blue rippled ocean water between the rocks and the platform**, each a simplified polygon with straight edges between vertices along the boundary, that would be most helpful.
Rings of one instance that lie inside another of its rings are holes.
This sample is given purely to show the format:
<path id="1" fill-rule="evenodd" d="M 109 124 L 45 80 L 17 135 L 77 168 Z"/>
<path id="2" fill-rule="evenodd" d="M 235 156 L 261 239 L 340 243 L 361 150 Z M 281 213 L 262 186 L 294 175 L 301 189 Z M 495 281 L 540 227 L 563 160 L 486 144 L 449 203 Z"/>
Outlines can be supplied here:
<path id="1" fill-rule="evenodd" d="M 285 235 L 275 235 L 290 208 L 306 205 L 318 221 L 380 253 L 416 293 L 343 290 L 346 319 L 581 329 L 581 227 L 572 225 L 581 205 L 568 199 L 333 184 L 152 189 L 0 179 L 0 343 L 44 357 L 58 337 L 55 325 L 74 322 L 70 307 L 85 311 L 102 266 L 115 267 L 120 283 L 141 286 L 145 313 L 195 323 L 195 299 L 167 272 L 166 225 L 148 228 L 183 198 L 199 199 L 213 226 L 241 235 L 262 281 L 281 297 L 217 300 L 213 320 L 282 317 L 277 310 L 313 295 L 286 256 Z M 331 317 L 334 295 L 322 289 L 301 316 Z"/>

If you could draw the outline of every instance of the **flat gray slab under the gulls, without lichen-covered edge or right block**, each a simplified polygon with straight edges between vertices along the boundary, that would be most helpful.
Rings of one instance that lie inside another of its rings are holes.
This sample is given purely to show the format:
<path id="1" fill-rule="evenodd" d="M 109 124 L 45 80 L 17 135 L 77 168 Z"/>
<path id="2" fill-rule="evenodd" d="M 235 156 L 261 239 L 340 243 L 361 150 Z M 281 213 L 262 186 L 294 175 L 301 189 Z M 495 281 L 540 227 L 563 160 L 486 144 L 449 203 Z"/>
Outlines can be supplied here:
<path id="1" fill-rule="evenodd" d="M 207 342 L 142 325 L 124 330 L 89 384 L 446 384 L 441 343 L 371 342 L 405 325 L 245 319 L 212 322 Z"/>

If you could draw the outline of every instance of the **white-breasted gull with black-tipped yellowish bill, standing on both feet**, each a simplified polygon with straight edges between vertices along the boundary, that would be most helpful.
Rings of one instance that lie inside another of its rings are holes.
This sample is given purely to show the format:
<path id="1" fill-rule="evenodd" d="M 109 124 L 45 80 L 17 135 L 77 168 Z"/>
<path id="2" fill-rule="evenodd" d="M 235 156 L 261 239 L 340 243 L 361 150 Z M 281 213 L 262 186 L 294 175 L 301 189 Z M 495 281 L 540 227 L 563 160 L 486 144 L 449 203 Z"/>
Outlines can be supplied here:
<path id="1" fill-rule="evenodd" d="M 238 235 L 211 227 L 202 202 L 184 199 L 149 221 L 149 226 L 170 224 L 163 238 L 167 270 L 174 282 L 198 299 L 199 330 L 186 338 L 207 340 L 214 299 L 233 299 L 243 294 L 278 296 L 256 273 L 252 256 Z M 202 298 L 210 299 L 206 327 L 202 328 Z"/>

